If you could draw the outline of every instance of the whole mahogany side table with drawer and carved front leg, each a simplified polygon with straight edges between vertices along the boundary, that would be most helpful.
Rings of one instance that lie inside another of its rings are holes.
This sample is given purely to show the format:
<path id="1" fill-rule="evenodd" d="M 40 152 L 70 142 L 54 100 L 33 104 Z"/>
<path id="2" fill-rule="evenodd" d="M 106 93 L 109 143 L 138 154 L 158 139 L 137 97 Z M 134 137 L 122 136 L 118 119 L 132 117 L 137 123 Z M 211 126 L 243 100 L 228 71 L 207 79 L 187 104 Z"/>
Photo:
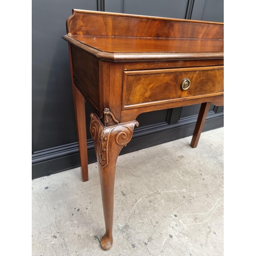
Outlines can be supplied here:
<path id="1" fill-rule="evenodd" d="M 105 234 L 112 246 L 116 161 L 139 114 L 202 103 L 196 147 L 210 102 L 223 105 L 223 23 L 73 10 L 67 20 L 81 176 L 88 180 L 84 100 L 101 183 Z"/>

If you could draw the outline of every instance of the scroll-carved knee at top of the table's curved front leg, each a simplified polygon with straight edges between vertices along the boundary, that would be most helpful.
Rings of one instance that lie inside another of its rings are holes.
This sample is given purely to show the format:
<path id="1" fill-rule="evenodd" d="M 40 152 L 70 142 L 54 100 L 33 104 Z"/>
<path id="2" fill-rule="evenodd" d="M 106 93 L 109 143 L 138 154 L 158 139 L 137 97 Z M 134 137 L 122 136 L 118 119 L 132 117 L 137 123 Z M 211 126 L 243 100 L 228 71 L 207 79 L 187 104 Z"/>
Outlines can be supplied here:
<path id="1" fill-rule="evenodd" d="M 107 127 L 95 114 L 91 114 L 90 132 L 98 163 L 102 168 L 112 161 L 110 154 L 113 159 L 117 159 L 123 146 L 126 146 L 132 139 L 135 125 L 139 125 L 136 120 Z"/>

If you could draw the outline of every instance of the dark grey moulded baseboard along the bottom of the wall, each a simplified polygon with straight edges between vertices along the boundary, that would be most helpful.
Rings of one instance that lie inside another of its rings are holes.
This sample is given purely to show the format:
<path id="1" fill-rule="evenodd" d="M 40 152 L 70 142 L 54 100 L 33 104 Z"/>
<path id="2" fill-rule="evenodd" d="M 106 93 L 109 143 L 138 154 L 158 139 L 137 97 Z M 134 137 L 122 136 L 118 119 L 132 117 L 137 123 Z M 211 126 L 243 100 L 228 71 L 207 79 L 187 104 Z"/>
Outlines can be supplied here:
<path id="1" fill-rule="evenodd" d="M 120 155 L 124 155 L 146 147 L 191 136 L 194 132 L 197 116 L 180 119 L 176 124 L 159 123 L 138 127 L 132 140 L 125 146 Z M 203 132 L 214 130 L 224 125 L 224 113 L 208 113 Z M 92 140 L 88 140 L 88 161 L 96 162 Z M 32 179 L 49 176 L 80 166 L 77 142 L 48 148 L 32 155 Z"/>

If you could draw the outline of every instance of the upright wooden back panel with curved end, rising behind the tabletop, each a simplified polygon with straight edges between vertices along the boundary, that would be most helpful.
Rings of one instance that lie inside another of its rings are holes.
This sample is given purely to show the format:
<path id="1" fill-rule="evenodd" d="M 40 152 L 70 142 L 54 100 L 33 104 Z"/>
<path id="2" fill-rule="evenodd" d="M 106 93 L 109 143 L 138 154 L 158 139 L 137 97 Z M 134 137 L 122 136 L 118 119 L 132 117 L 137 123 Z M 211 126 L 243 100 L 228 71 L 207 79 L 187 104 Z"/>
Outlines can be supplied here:
<path id="1" fill-rule="evenodd" d="M 83 10 L 67 20 L 69 35 L 223 39 L 223 31 L 222 23 Z"/>

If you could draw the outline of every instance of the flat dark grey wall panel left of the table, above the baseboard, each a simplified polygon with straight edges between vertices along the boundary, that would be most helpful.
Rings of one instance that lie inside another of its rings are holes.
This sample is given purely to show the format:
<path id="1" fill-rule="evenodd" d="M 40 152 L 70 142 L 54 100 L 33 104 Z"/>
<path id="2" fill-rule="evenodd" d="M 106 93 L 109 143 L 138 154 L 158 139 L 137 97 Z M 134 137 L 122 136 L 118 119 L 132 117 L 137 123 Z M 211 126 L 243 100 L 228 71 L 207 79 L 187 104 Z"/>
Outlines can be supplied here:
<path id="1" fill-rule="evenodd" d="M 66 19 L 72 9 L 97 10 L 97 1 L 32 1 L 32 147 L 76 142 Z"/>

